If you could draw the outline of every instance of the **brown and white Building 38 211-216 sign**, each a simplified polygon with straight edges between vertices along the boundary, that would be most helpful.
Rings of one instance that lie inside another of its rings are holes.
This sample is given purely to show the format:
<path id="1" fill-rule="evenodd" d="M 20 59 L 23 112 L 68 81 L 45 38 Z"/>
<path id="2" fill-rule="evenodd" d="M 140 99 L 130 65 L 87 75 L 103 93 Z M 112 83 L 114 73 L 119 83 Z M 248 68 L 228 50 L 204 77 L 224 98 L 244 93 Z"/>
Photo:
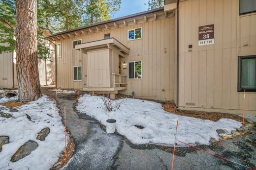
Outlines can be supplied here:
<path id="1" fill-rule="evenodd" d="M 214 24 L 198 27 L 198 46 L 214 44 Z"/>

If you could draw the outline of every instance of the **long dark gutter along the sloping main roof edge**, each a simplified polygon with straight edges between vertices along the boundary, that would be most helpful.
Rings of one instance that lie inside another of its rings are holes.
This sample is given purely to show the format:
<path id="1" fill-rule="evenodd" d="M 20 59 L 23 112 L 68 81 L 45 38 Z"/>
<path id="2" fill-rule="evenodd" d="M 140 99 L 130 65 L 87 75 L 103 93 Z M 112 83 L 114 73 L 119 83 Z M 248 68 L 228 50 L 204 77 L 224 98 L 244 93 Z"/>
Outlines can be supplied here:
<path id="1" fill-rule="evenodd" d="M 134 17 L 139 17 L 139 16 L 151 14 L 151 13 L 156 13 L 156 12 L 160 12 L 160 11 L 163 11 L 163 7 L 148 10 L 148 11 L 144 11 L 144 12 L 140 12 L 140 13 L 136 13 L 136 14 L 131 14 L 131 15 L 124 16 L 124 17 L 119 17 L 119 18 L 116 18 L 116 19 L 108 20 L 108 21 L 103 21 L 103 22 L 96 23 L 96 24 L 91 24 L 91 25 L 88 25 L 88 26 L 82 26 L 82 27 L 79 27 L 79 28 L 70 29 L 70 30 L 67 30 L 67 31 L 63 31 L 63 32 L 51 34 L 49 36 L 45 36 L 45 38 L 51 38 L 51 37 L 54 37 L 54 36 L 57 36 L 57 35 L 66 34 L 66 33 L 74 32 L 74 31 L 79 31 L 81 29 L 91 28 L 91 27 L 99 26 L 99 25 L 103 25 L 103 24 L 114 23 L 114 22 L 130 19 L 130 18 L 134 18 Z"/>

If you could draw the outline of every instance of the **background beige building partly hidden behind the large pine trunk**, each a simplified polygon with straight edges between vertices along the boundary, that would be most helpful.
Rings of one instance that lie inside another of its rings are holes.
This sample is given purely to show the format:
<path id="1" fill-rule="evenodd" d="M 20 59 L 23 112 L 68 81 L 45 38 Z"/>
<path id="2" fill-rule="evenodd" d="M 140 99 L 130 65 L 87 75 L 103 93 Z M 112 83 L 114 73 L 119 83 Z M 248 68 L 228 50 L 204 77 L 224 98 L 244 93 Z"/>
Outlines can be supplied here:
<path id="1" fill-rule="evenodd" d="M 50 35 L 49 31 L 43 31 L 43 35 Z M 50 48 L 47 60 L 38 59 L 38 70 L 40 85 L 55 84 L 55 48 L 54 45 L 46 40 Z M 0 54 L 0 88 L 17 88 L 16 73 L 16 53 L 6 52 Z"/>

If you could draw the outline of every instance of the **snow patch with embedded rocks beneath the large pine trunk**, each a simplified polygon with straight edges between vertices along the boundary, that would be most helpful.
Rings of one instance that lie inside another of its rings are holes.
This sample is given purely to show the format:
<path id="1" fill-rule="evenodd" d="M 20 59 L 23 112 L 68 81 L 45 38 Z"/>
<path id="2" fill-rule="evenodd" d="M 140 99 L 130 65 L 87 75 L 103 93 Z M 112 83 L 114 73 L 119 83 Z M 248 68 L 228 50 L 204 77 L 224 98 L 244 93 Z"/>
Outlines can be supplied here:
<path id="1" fill-rule="evenodd" d="M 0 105 L 1 112 L 13 116 L 8 119 L 0 117 L 0 136 L 9 136 L 10 141 L 2 146 L 0 169 L 49 170 L 64 150 L 64 126 L 59 111 L 55 113 L 54 102 L 44 95 L 16 109 L 18 112 L 10 112 L 7 107 Z M 31 121 L 26 114 L 31 117 Z M 50 128 L 45 141 L 36 140 L 37 133 L 45 127 Z M 29 140 L 35 141 L 38 147 L 30 155 L 12 163 L 12 155 Z"/>

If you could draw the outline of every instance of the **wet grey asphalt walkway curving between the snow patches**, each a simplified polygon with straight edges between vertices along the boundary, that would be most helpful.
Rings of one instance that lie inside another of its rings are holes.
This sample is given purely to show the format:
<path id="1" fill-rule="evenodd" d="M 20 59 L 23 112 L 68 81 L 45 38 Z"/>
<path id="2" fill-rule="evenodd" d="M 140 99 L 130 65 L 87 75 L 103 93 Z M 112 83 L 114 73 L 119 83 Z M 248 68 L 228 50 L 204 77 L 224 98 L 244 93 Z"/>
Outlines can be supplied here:
<path id="1" fill-rule="evenodd" d="M 51 97 L 53 93 L 42 88 Z M 66 106 L 67 128 L 75 142 L 73 157 L 64 170 L 170 170 L 173 147 L 133 145 L 119 134 L 107 134 L 95 119 L 79 113 L 76 95 L 58 95 L 58 107 Z M 256 169 L 256 126 L 237 138 L 198 146 L 245 166 Z M 177 148 L 174 170 L 246 170 L 191 147 Z"/>

